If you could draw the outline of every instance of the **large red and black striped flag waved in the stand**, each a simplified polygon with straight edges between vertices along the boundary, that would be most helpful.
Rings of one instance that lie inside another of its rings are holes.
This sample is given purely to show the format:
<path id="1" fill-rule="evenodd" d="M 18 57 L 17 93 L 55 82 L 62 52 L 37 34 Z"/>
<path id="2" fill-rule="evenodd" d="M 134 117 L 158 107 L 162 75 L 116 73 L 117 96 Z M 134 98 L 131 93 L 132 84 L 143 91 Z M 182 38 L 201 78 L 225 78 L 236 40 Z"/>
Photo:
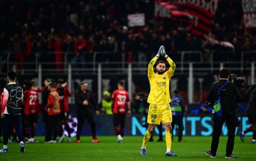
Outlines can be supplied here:
<path id="1" fill-rule="evenodd" d="M 187 21 L 192 33 L 208 35 L 219 0 L 155 0 L 155 17 Z"/>

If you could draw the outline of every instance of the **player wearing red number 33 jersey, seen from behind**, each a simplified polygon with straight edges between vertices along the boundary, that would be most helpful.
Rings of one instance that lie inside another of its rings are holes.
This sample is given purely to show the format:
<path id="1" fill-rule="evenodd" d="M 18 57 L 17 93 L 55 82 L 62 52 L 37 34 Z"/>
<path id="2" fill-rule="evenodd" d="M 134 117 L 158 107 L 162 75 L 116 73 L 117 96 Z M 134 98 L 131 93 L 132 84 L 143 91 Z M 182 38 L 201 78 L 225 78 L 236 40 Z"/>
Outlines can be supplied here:
<path id="1" fill-rule="evenodd" d="M 129 93 L 124 90 L 124 82 L 119 81 L 117 87 L 118 90 L 115 90 L 112 94 L 113 124 L 117 134 L 117 142 L 123 142 L 126 105 L 128 105 L 127 116 L 129 117 L 131 115 L 131 103 Z"/>

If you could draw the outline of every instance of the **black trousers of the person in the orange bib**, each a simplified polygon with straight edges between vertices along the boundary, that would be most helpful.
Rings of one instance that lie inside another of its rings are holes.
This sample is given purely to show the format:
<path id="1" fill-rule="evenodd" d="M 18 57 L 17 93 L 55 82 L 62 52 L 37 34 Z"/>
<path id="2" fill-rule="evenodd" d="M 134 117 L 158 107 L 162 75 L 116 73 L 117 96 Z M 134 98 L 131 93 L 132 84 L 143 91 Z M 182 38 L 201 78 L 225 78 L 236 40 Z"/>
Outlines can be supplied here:
<path id="1" fill-rule="evenodd" d="M 59 115 L 48 115 L 48 133 L 46 136 L 50 136 L 53 133 L 52 140 L 56 140 L 56 137 L 59 133 Z"/>

